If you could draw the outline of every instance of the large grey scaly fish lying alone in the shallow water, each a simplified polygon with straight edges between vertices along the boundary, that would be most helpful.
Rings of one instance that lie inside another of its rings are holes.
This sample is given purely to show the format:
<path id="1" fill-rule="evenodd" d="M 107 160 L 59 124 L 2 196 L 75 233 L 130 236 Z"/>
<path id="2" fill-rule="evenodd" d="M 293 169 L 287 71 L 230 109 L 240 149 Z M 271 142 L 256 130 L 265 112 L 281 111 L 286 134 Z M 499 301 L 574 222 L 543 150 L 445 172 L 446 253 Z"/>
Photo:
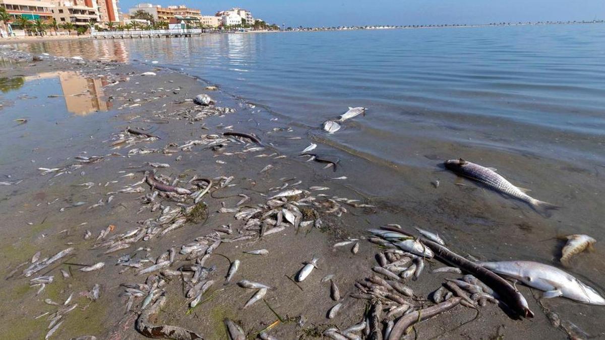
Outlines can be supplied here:
<path id="1" fill-rule="evenodd" d="M 524 201 L 539 214 L 548 216 L 549 211 L 559 208 L 554 204 L 540 201 L 529 196 L 525 193 L 525 189 L 512 185 L 511 182 L 506 180 L 506 178 L 497 174 L 494 170 L 485 168 L 484 166 L 467 162 L 463 159 L 451 159 L 445 161 L 445 168 L 450 169 L 456 174 L 476 180 L 497 192 L 517 198 L 517 200 Z"/>

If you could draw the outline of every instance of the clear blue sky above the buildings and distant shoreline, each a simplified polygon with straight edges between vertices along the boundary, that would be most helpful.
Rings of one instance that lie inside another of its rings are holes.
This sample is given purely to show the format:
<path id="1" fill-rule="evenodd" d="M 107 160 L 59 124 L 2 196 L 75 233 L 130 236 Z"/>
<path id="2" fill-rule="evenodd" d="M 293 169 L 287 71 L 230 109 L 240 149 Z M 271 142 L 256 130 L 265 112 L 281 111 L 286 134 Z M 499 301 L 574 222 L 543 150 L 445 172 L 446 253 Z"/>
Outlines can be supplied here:
<path id="1" fill-rule="evenodd" d="M 121 0 L 120 8 L 139 2 Z M 203 14 L 242 7 L 255 18 L 286 26 L 483 24 L 605 19 L 605 0 L 159 0 Z"/>

